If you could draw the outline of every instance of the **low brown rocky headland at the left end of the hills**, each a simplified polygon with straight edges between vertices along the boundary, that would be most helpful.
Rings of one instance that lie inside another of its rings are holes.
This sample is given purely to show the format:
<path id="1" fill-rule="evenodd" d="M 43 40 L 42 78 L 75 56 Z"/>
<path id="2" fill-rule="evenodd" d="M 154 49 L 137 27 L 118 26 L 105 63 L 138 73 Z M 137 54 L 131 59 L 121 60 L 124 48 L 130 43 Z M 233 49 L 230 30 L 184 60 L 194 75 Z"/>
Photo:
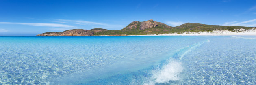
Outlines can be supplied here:
<path id="1" fill-rule="evenodd" d="M 38 34 L 37 36 L 93 36 L 94 33 L 105 31 L 106 29 L 92 29 L 92 30 L 83 30 L 83 29 L 73 29 L 66 30 L 64 32 L 46 32 Z"/>

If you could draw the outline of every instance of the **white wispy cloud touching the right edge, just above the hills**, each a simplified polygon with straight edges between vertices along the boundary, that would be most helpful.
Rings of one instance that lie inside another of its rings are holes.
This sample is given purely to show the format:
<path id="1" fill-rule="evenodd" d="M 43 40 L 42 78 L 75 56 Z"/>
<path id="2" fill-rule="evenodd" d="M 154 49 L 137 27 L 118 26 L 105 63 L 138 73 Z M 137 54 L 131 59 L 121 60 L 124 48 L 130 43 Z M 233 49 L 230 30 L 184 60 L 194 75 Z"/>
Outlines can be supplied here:
<path id="1" fill-rule="evenodd" d="M 232 22 L 225 22 L 224 26 L 256 26 L 256 19 L 248 20 L 248 21 L 232 21 Z"/>

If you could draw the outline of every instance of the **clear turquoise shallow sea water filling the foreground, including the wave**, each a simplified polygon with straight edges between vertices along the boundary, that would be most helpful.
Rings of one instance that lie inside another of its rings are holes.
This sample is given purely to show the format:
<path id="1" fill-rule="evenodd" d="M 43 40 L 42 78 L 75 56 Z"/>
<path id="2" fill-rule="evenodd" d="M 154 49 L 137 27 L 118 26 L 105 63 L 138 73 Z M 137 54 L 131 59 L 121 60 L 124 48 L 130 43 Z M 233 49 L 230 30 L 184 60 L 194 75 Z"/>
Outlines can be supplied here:
<path id="1" fill-rule="evenodd" d="M 256 36 L 0 36 L 1 84 L 256 84 Z"/>

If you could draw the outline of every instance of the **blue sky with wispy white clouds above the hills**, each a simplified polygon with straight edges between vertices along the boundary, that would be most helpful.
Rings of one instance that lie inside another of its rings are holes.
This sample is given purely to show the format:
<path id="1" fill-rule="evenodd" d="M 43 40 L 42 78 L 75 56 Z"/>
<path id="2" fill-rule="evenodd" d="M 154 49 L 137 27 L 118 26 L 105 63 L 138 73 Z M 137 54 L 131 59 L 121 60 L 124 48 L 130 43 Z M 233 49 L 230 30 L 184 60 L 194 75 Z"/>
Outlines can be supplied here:
<path id="1" fill-rule="evenodd" d="M 256 26 L 256 0 L 0 0 L 0 35 L 120 30 L 132 21 L 170 26 Z"/>

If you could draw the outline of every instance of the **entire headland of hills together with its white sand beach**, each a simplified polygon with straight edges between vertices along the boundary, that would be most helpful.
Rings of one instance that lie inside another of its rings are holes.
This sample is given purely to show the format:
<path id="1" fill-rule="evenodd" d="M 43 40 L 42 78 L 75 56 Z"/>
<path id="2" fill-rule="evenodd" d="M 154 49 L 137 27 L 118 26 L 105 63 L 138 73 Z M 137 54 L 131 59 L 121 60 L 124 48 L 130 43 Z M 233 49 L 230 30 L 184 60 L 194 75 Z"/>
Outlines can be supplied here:
<path id="1" fill-rule="evenodd" d="M 45 32 L 37 36 L 128 36 L 128 35 L 256 35 L 256 27 L 219 26 L 200 23 L 184 23 L 172 27 L 152 19 L 133 21 L 121 30 L 94 28 L 72 29 L 63 32 Z"/>

